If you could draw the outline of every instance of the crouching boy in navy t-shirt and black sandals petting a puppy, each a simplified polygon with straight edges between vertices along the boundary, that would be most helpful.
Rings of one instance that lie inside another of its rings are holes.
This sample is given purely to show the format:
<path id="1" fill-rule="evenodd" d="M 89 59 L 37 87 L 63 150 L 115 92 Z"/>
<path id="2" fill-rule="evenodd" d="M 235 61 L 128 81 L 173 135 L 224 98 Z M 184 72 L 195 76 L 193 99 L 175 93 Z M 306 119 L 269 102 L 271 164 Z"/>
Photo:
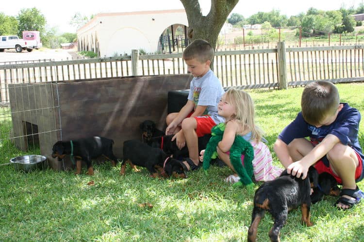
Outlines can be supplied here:
<path id="1" fill-rule="evenodd" d="M 364 176 L 364 155 L 358 141 L 361 114 L 340 103 L 337 88 L 328 81 L 305 87 L 301 109 L 278 136 L 274 151 L 287 172 L 298 178 L 302 175 L 304 179 L 311 165 L 319 174 L 330 173 L 342 184 L 335 206 L 347 210 L 364 195 L 356 185 Z"/>

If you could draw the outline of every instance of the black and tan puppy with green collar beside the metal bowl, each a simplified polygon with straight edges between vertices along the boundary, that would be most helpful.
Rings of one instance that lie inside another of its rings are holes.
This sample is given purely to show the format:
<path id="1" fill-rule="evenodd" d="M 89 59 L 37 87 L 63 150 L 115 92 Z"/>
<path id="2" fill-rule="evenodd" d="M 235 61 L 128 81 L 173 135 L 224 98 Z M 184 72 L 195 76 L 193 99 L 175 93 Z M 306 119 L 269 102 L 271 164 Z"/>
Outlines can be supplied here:
<path id="1" fill-rule="evenodd" d="M 105 156 L 116 166 L 117 158 L 113 153 L 112 139 L 105 137 L 88 137 L 83 139 L 75 139 L 69 141 L 57 141 L 52 148 L 52 157 L 58 159 L 65 158 L 66 155 L 71 155 L 71 160 L 76 160 L 76 174 L 81 173 L 82 160 L 86 162 L 88 175 L 94 174 L 91 159 L 97 158 L 101 155 Z"/>

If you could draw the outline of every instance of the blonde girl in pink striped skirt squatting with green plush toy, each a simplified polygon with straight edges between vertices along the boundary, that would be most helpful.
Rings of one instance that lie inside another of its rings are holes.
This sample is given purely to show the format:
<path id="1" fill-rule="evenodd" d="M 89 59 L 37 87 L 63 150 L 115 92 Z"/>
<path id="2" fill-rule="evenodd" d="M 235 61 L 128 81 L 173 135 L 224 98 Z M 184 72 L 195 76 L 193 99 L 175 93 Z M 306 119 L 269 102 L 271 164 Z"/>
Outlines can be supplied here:
<path id="1" fill-rule="evenodd" d="M 219 158 L 235 172 L 230 161 L 230 148 L 235 136 L 242 136 L 250 142 L 254 149 L 252 161 L 255 181 L 271 181 L 278 177 L 282 169 L 273 166 L 269 148 L 262 142 L 263 131 L 254 122 L 254 103 L 250 95 L 238 89 L 229 89 L 221 97 L 218 103 L 218 114 L 225 118 L 226 128 L 222 140 L 217 144 L 216 150 Z M 203 153 L 200 153 L 200 161 L 203 161 Z M 244 165 L 244 155 L 242 155 Z M 235 183 L 239 181 L 236 174 L 228 176 L 225 181 Z"/>

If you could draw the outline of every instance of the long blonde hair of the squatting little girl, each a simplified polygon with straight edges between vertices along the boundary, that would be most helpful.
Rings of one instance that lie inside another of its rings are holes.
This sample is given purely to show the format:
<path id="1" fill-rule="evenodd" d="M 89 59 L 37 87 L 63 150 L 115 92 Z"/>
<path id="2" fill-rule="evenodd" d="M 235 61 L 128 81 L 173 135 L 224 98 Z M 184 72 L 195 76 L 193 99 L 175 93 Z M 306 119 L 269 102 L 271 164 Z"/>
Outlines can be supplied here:
<path id="1" fill-rule="evenodd" d="M 236 110 L 236 115 L 233 115 L 232 119 L 241 123 L 243 129 L 248 126 L 249 131 L 251 131 L 251 139 L 260 142 L 264 132 L 255 125 L 254 102 L 250 95 L 243 90 L 231 88 L 226 92 L 225 97 Z"/>

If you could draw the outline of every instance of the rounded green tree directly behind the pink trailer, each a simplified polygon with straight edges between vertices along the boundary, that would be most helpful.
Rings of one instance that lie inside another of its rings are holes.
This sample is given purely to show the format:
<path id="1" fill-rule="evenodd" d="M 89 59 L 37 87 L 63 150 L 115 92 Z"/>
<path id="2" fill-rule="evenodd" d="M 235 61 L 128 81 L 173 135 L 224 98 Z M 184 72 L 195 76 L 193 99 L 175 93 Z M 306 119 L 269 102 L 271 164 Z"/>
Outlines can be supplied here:
<path id="1" fill-rule="evenodd" d="M 19 22 L 18 36 L 22 37 L 24 30 L 37 30 L 41 35 L 45 32 L 46 18 L 36 8 L 21 9 L 17 15 Z"/>

